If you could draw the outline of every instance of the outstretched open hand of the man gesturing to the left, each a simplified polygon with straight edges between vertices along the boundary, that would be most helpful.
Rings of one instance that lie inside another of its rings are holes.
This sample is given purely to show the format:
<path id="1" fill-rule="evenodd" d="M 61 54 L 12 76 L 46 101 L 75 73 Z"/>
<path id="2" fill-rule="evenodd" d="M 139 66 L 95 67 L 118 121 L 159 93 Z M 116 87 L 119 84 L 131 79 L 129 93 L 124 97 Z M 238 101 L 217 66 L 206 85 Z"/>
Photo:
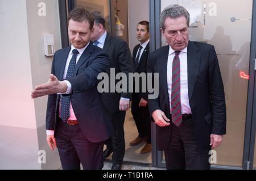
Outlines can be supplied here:
<path id="1" fill-rule="evenodd" d="M 51 74 L 48 82 L 35 87 L 31 92 L 31 98 L 34 99 L 44 95 L 64 93 L 67 91 L 67 87 L 67 83 L 59 81 L 55 75 Z"/>

